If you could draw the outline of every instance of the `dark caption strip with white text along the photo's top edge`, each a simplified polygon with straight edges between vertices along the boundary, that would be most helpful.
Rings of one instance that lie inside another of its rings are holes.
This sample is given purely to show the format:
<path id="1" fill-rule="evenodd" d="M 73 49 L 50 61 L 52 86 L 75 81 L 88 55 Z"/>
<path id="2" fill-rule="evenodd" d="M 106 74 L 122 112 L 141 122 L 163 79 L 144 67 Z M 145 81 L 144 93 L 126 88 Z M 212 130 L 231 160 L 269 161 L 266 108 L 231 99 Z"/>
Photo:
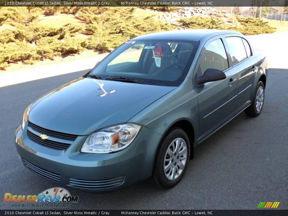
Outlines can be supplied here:
<path id="1" fill-rule="evenodd" d="M 288 0 L 0 0 L 1 7 L 220 7 L 288 6 Z"/>

